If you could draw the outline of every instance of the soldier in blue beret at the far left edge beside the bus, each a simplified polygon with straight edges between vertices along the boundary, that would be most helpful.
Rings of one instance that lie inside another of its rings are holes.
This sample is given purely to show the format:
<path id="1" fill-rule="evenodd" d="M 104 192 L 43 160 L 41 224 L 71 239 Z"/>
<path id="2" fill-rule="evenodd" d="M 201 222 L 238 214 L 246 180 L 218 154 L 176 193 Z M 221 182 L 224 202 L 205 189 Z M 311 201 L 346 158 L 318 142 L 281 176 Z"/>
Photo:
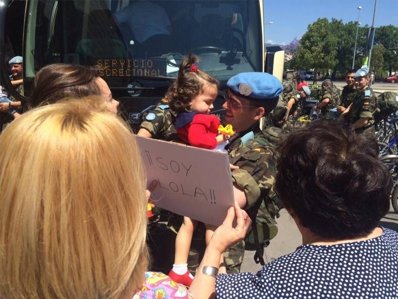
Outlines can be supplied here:
<path id="1" fill-rule="evenodd" d="M 11 66 L 11 73 L 12 75 L 10 76 L 10 80 L 12 81 L 19 81 L 19 84 L 12 84 L 15 87 L 15 90 L 23 96 L 23 84 L 22 84 L 22 57 L 21 56 L 15 56 L 10 59 L 8 64 Z M 8 97 L 11 102 L 6 102 L 6 103 L 0 103 L 0 111 L 1 112 L 7 112 L 11 108 L 17 109 L 17 112 L 14 113 L 19 116 L 20 113 L 24 112 L 26 110 L 25 103 L 21 101 L 15 101 L 15 98 L 13 96 Z"/>

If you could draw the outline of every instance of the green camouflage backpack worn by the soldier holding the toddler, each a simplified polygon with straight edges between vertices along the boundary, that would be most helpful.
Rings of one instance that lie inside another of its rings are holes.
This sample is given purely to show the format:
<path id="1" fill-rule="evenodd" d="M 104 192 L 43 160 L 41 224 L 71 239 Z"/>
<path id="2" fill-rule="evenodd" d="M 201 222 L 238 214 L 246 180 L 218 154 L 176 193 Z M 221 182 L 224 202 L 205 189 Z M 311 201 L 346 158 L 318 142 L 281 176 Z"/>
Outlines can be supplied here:
<path id="1" fill-rule="evenodd" d="M 276 127 L 269 127 L 263 130 L 268 142 L 274 147 L 277 146 L 284 133 L 282 129 Z M 262 139 L 256 139 L 257 142 Z M 263 140 L 264 144 L 265 141 Z M 264 262 L 264 248 L 270 244 L 278 233 L 277 222 L 275 218 L 279 217 L 279 211 L 283 208 L 278 195 L 271 189 L 259 182 L 261 190 L 260 199 L 247 211 L 252 220 L 252 229 L 245 237 L 245 249 L 254 250 L 254 261 L 256 264 L 260 263 L 262 266 Z"/>

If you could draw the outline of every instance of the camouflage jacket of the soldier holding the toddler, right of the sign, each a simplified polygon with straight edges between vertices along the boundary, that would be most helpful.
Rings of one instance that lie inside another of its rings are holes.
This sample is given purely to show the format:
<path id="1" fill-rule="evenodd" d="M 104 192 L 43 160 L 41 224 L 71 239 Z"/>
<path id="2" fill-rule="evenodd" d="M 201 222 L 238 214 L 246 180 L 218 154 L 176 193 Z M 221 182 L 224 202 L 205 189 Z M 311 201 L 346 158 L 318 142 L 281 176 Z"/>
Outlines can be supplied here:
<path id="1" fill-rule="evenodd" d="M 266 196 L 267 210 L 264 217 L 272 222 L 275 221 L 273 219 L 278 215 L 281 206 L 273 191 L 276 175 L 275 145 L 269 140 L 269 136 L 275 134 L 269 128 L 261 131 L 258 127 L 256 123 L 249 130 L 231 139 L 226 150 L 229 162 L 239 166 L 232 171 L 232 181 L 246 195 L 245 209 L 249 209 L 262 196 Z"/>

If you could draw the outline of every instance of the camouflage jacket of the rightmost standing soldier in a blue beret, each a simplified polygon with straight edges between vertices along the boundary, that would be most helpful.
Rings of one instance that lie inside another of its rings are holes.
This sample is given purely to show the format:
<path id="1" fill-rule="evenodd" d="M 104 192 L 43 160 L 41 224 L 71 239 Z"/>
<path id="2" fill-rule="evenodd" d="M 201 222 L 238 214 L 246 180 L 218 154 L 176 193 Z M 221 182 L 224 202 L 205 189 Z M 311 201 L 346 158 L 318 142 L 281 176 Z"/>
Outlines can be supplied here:
<path id="1" fill-rule="evenodd" d="M 350 124 L 354 124 L 361 118 L 369 119 L 363 129 L 371 127 L 375 123 L 374 114 L 377 111 L 377 98 L 372 88 L 357 92 L 352 102 L 348 116 Z"/>

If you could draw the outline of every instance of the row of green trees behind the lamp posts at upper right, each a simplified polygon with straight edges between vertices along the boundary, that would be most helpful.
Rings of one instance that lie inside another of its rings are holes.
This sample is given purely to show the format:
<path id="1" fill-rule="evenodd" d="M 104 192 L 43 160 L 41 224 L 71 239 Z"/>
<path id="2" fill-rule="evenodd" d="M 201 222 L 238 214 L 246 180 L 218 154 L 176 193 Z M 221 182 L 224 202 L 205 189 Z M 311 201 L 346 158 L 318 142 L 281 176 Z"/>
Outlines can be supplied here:
<path id="1" fill-rule="evenodd" d="M 352 67 L 357 22 L 346 24 L 342 20 L 318 18 L 308 25 L 302 36 L 298 51 L 289 61 L 290 68 L 315 69 L 326 73 L 329 69 L 345 74 Z M 354 68 L 361 67 L 366 51 L 368 25 L 358 28 Z M 371 68 L 378 76 L 385 71 L 398 70 L 398 27 L 393 25 L 376 28 Z M 380 78 L 380 77 L 379 77 Z"/>

